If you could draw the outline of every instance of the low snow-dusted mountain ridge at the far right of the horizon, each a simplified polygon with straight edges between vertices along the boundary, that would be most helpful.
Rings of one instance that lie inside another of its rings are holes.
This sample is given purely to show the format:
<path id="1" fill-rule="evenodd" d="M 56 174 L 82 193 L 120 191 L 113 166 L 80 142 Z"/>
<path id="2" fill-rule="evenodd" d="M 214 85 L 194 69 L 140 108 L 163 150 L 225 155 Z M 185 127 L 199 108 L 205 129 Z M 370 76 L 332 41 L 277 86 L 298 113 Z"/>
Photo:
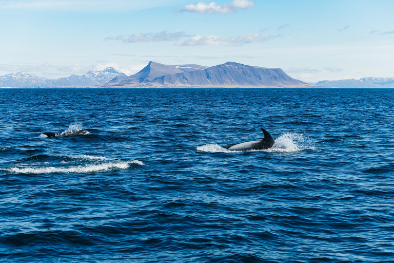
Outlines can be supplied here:
<path id="1" fill-rule="evenodd" d="M 394 87 L 394 78 L 361 78 L 359 80 L 334 80 L 319 81 L 317 86 L 336 88 L 386 88 Z"/>

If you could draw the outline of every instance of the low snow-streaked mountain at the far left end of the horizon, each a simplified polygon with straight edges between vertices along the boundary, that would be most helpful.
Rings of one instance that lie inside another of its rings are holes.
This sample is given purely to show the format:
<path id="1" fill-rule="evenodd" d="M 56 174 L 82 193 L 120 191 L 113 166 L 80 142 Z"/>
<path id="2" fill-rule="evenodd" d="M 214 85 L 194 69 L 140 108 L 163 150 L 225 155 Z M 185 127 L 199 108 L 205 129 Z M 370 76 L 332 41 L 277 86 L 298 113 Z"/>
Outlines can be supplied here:
<path id="1" fill-rule="evenodd" d="M 38 87 L 52 81 L 33 74 L 16 72 L 0 76 L 0 87 Z"/>

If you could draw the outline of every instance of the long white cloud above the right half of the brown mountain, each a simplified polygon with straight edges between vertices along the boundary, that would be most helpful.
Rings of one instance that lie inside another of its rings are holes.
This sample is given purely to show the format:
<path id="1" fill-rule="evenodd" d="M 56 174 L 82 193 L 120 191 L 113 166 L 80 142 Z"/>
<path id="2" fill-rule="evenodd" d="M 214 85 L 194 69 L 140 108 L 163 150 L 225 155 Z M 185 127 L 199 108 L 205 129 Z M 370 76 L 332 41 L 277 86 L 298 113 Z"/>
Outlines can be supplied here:
<path id="1" fill-rule="evenodd" d="M 220 37 L 217 35 L 195 35 L 185 41 L 176 42 L 176 46 L 236 46 L 248 43 L 264 42 L 281 35 L 262 35 L 260 33 L 242 34 L 234 37 Z"/>

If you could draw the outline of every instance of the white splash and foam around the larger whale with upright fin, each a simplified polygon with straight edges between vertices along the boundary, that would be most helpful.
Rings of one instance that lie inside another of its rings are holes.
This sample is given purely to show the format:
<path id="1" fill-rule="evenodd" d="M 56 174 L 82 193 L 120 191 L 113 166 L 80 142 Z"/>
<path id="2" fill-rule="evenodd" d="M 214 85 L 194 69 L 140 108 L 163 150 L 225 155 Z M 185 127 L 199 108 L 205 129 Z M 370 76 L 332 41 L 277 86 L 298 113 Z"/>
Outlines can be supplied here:
<path id="1" fill-rule="evenodd" d="M 205 144 L 196 147 L 197 151 L 206 153 L 237 153 L 237 152 L 268 152 L 268 153 L 298 153 L 307 149 L 317 151 L 318 148 L 312 146 L 308 137 L 303 134 L 286 133 L 275 139 L 271 148 L 249 151 L 229 151 L 219 144 Z"/>

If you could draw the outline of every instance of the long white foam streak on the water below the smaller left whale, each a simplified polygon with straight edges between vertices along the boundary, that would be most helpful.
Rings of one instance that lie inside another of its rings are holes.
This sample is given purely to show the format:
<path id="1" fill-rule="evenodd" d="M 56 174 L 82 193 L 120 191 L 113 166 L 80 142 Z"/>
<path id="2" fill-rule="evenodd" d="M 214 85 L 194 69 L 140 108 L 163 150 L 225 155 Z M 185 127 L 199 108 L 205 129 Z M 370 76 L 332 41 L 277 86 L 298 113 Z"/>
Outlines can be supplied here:
<path id="1" fill-rule="evenodd" d="M 93 173 L 93 172 L 108 172 L 111 170 L 126 170 L 131 164 L 144 165 L 143 162 L 139 160 L 131 161 L 115 161 L 106 162 L 99 164 L 86 164 L 86 165 L 76 165 L 71 167 L 11 167 L 6 169 L 11 173 L 24 173 L 24 174 L 42 174 L 42 173 Z"/>

